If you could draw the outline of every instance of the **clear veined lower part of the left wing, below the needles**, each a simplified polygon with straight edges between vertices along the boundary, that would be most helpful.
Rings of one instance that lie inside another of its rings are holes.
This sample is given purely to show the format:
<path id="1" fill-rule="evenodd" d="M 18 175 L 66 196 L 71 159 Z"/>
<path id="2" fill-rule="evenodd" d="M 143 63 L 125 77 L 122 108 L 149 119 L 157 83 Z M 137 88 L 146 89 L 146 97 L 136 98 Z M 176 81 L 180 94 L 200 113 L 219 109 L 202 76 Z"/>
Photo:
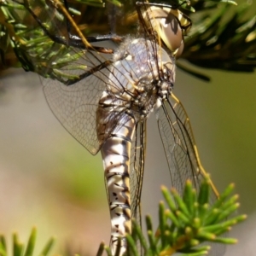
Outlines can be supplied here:
<path id="1" fill-rule="evenodd" d="M 58 80 L 43 79 L 49 108 L 61 125 L 91 154 L 96 154 L 102 145 L 97 136 L 96 110 L 105 89 L 101 79 L 104 73 L 108 73 L 107 70 L 69 86 Z"/>

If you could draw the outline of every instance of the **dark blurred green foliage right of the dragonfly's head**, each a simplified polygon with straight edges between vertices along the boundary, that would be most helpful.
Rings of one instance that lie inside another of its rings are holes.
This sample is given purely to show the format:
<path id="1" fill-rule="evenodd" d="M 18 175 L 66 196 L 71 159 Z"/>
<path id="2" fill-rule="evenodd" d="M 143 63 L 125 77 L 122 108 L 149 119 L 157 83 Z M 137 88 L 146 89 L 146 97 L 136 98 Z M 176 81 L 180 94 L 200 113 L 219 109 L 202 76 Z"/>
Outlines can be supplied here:
<path id="1" fill-rule="evenodd" d="M 256 66 L 256 14 L 251 3 L 201 11 L 186 38 L 183 58 L 200 67 L 253 72 Z M 197 14 L 196 14 L 197 15 Z"/>

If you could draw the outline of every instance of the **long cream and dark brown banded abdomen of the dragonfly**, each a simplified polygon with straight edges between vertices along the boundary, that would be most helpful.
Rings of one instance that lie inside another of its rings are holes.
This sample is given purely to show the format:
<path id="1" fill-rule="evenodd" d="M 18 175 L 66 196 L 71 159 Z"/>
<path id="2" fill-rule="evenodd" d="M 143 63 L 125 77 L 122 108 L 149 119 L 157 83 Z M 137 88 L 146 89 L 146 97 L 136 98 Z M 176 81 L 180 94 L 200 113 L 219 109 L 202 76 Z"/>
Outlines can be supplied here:
<path id="1" fill-rule="evenodd" d="M 126 250 L 125 234 L 131 233 L 130 158 L 134 128 L 135 120 L 128 119 L 125 125 L 112 132 L 101 150 L 111 217 L 112 253 L 120 237 L 120 255 Z"/>

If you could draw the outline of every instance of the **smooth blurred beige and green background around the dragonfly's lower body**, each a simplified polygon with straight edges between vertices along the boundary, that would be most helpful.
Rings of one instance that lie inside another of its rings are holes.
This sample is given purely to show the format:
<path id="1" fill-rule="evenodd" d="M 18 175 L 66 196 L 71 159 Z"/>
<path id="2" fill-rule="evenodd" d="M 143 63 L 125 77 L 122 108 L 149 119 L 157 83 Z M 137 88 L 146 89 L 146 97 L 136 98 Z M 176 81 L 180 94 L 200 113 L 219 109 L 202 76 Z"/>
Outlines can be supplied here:
<path id="1" fill-rule="evenodd" d="M 231 232 L 241 242 L 228 247 L 225 255 L 253 255 L 256 74 L 204 72 L 212 83 L 177 70 L 174 93 L 189 113 L 203 166 L 220 191 L 236 183 L 239 212 L 249 215 Z M 91 156 L 55 119 L 36 74 L 22 69 L 2 73 L 0 119 L 1 232 L 10 237 L 17 230 L 24 241 L 36 225 L 38 249 L 55 235 L 56 252 L 68 246 L 76 253 L 96 254 L 98 244 L 108 243 L 110 233 L 100 156 Z M 143 214 L 157 216 L 160 184 L 170 185 L 165 163 L 152 114 Z"/>

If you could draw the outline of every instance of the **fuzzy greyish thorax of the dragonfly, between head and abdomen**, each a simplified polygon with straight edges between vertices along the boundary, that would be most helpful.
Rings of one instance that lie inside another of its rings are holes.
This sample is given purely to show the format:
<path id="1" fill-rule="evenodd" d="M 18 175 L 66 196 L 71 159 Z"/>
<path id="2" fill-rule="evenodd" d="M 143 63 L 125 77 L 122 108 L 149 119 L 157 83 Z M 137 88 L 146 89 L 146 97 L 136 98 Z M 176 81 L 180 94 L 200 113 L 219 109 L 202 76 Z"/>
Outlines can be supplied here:
<path id="1" fill-rule="evenodd" d="M 148 118 L 171 94 L 174 68 L 174 59 L 159 45 L 128 38 L 113 55 L 100 105 L 109 113 L 129 113 L 137 121 Z"/>

